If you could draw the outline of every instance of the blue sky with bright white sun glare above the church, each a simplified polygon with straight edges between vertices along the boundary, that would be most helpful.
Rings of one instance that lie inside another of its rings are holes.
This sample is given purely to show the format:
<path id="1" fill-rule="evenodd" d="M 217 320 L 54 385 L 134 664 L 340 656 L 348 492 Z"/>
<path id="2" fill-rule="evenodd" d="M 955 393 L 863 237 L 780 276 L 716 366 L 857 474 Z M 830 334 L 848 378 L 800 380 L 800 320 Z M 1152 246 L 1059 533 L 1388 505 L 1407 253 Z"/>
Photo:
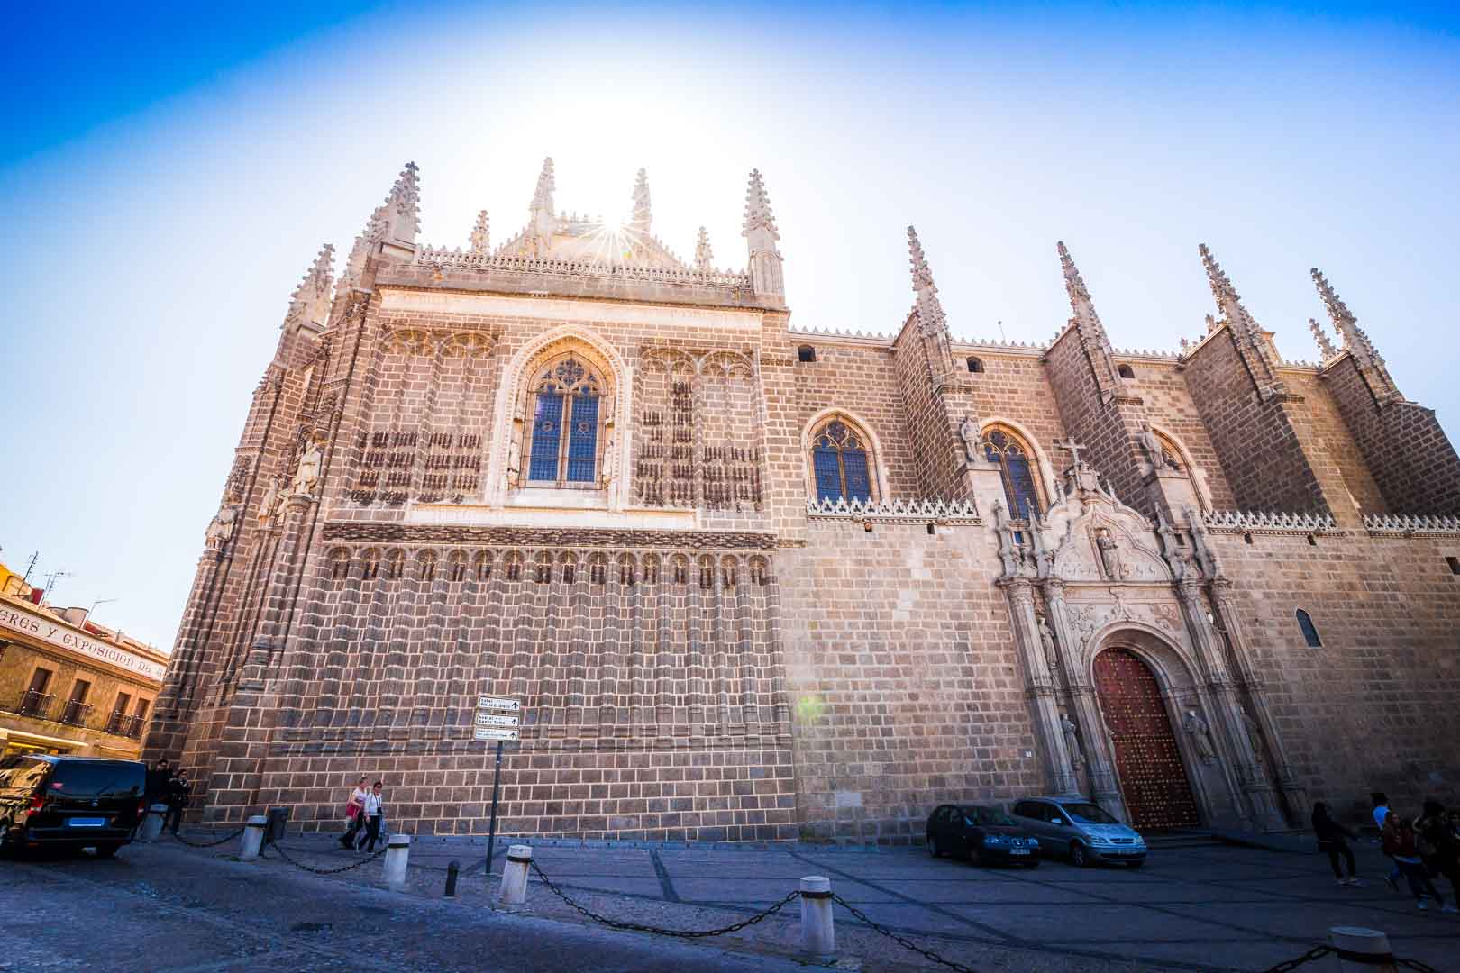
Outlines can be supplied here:
<path id="1" fill-rule="evenodd" d="M 10 432 L 0 557 L 171 645 L 289 292 L 407 159 L 422 241 L 558 203 L 745 261 L 765 174 L 793 322 L 888 331 L 915 223 L 953 333 L 1047 340 L 1064 239 L 1117 347 L 1213 311 L 1207 242 L 1289 359 L 1321 267 L 1400 388 L 1460 422 L 1450 7 L 72 6 L 0 66 Z"/>

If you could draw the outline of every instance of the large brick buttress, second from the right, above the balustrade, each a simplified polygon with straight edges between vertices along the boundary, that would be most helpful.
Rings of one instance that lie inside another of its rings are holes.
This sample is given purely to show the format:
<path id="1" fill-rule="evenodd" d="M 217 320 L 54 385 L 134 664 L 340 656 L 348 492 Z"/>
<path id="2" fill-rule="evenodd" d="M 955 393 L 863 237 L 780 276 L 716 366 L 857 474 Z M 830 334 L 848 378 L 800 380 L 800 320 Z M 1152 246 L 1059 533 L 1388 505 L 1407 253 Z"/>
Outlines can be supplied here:
<path id="1" fill-rule="evenodd" d="M 1285 404 L 1259 398 L 1229 330 L 1187 357 L 1186 379 L 1238 509 L 1329 511 Z"/>

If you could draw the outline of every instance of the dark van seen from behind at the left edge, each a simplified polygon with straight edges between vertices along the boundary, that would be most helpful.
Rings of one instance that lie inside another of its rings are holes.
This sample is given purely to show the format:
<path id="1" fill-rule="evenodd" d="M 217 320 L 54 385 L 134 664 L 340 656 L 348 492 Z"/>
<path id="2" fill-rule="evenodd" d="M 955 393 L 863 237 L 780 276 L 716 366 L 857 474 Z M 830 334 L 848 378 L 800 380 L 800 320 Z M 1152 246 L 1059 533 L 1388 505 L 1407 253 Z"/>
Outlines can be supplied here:
<path id="1" fill-rule="evenodd" d="M 146 810 L 139 760 L 16 754 L 0 761 L 0 849 L 95 848 L 111 858 Z"/>

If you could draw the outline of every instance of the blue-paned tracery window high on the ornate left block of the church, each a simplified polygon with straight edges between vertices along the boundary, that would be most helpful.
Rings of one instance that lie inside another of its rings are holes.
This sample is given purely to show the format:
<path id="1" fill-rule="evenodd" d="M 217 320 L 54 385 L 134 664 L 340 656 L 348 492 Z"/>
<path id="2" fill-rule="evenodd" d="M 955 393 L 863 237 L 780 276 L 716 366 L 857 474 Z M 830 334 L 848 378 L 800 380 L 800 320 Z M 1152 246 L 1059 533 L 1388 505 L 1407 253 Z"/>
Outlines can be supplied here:
<path id="1" fill-rule="evenodd" d="M 553 359 L 536 376 L 527 414 L 529 486 L 591 489 L 599 484 L 603 381 L 578 357 Z"/>

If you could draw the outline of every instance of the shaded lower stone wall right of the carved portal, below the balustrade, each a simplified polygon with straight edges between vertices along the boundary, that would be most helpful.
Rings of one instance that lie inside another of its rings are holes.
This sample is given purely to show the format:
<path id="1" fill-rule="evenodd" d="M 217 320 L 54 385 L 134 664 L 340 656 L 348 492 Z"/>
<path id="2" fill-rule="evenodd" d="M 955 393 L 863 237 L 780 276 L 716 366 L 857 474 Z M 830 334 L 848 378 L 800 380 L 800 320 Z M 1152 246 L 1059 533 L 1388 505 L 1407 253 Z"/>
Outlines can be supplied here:
<path id="1" fill-rule="evenodd" d="M 1356 817 L 1369 791 L 1416 813 L 1460 799 L 1460 538 L 1212 535 L 1310 798 Z M 1308 648 L 1305 610 L 1323 648 Z"/>

